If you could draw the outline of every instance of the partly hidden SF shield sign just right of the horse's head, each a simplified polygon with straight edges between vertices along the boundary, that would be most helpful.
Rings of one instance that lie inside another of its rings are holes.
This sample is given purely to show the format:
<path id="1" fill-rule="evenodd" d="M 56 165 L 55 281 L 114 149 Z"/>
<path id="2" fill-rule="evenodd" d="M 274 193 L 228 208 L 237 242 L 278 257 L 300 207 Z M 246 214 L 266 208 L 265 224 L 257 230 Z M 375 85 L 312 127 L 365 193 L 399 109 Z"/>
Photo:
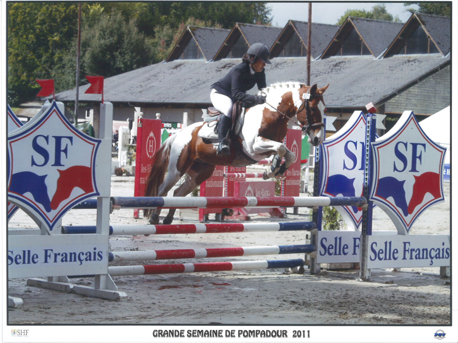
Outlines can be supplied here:
<path id="1" fill-rule="evenodd" d="M 365 161 L 363 112 L 354 111 L 347 123 L 322 144 L 323 169 L 321 196 L 362 196 Z M 362 208 L 336 206 L 349 227 L 358 229 Z M 352 225 L 353 224 L 353 225 Z"/>

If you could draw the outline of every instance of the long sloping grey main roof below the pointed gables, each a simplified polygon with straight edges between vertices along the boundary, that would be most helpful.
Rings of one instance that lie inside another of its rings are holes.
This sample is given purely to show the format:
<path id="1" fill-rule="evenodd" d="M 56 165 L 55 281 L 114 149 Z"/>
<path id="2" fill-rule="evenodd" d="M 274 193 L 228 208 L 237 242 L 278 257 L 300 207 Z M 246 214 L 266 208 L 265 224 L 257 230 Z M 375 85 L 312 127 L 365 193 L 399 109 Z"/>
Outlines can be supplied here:
<path id="1" fill-rule="evenodd" d="M 104 100 L 112 103 L 151 103 L 159 106 L 189 107 L 210 105 L 210 85 L 221 79 L 240 60 L 202 63 L 175 60 L 158 63 L 112 76 L 104 82 Z M 311 80 L 319 87 L 330 86 L 325 102 L 331 108 L 364 107 L 379 103 L 403 87 L 450 63 L 450 57 L 438 55 L 373 58 L 330 57 L 311 61 Z M 266 67 L 267 85 L 276 82 L 305 82 L 306 60 L 277 58 Z M 81 86 L 80 102 L 98 102 L 100 95 L 85 94 Z M 58 101 L 74 101 L 75 89 L 56 94 Z M 249 93 L 256 93 L 252 89 Z M 143 106 L 143 105 L 142 105 Z"/>

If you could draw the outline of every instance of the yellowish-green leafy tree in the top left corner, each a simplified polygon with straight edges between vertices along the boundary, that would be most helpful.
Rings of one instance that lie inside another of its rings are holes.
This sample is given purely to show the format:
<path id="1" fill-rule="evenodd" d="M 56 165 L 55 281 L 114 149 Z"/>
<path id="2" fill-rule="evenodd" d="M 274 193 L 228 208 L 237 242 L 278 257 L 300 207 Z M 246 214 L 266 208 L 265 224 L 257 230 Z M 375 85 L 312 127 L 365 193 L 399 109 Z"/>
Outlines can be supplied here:
<path id="1" fill-rule="evenodd" d="M 7 8 L 7 97 L 11 105 L 18 105 L 38 93 L 35 79 L 50 78 L 62 60 L 77 31 L 77 6 L 74 2 L 10 2 Z"/>

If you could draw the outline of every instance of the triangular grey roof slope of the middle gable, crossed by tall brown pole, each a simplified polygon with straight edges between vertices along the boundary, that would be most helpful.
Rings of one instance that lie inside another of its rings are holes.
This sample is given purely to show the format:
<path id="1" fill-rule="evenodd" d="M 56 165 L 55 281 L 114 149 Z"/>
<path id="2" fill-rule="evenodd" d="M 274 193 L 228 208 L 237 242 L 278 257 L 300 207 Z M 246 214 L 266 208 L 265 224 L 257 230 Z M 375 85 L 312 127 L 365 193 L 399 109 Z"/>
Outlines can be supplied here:
<path id="1" fill-rule="evenodd" d="M 299 22 L 296 20 L 292 20 L 291 22 L 299 33 L 300 38 L 302 38 L 302 41 L 305 45 L 307 45 L 309 24 L 307 22 Z M 327 44 L 331 42 L 331 39 L 333 39 L 334 35 L 337 33 L 338 29 L 338 25 L 312 22 L 311 55 L 314 58 L 318 57 L 324 51 Z"/>

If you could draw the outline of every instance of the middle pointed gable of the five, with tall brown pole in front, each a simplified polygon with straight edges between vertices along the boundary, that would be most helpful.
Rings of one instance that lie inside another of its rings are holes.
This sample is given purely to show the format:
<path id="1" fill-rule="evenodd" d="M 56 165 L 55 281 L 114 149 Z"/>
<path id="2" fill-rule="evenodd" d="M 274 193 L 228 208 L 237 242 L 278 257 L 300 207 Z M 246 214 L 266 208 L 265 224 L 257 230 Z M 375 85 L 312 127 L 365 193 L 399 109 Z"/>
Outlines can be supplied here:
<path id="1" fill-rule="evenodd" d="M 270 48 L 270 57 L 305 57 L 307 56 L 308 23 L 290 20 L 275 43 Z M 311 58 L 321 55 L 327 44 L 337 33 L 338 25 L 311 25 Z"/>

